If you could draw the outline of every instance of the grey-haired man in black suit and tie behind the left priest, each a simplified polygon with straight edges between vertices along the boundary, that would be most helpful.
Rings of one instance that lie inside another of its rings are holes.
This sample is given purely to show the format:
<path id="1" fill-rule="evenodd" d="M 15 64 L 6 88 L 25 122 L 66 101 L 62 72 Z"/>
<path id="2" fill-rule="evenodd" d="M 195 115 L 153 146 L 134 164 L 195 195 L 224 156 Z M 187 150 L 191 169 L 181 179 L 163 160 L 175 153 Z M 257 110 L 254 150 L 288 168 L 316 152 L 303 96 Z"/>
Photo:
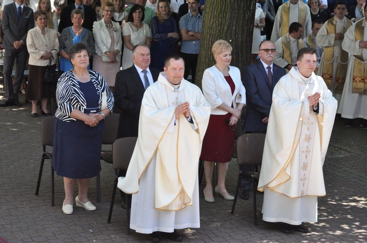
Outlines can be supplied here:
<path id="1" fill-rule="evenodd" d="M 145 44 L 133 48 L 134 65 L 119 71 L 115 81 L 115 107 L 121 110 L 118 123 L 117 139 L 138 137 L 141 100 L 146 88 L 158 80 L 160 71 L 151 68 L 150 49 Z M 126 171 L 119 171 L 125 176 Z M 121 191 L 121 205 L 126 207 L 125 194 Z"/>

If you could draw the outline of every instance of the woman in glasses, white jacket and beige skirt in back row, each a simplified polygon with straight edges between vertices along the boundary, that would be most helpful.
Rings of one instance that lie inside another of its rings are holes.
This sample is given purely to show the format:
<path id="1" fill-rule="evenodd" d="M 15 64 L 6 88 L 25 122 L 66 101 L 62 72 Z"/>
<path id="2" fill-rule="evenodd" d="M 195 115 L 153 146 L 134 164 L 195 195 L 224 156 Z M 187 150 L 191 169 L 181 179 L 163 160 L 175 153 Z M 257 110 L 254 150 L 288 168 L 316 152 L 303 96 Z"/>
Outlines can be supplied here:
<path id="1" fill-rule="evenodd" d="M 93 70 L 98 71 L 107 82 L 112 93 L 115 91 L 116 73 L 120 70 L 122 37 L 121 27 L 111 19 L 115 5 L 112 1 L 102 3 L 103 19 L 93 23 L 95 54 Z"/>

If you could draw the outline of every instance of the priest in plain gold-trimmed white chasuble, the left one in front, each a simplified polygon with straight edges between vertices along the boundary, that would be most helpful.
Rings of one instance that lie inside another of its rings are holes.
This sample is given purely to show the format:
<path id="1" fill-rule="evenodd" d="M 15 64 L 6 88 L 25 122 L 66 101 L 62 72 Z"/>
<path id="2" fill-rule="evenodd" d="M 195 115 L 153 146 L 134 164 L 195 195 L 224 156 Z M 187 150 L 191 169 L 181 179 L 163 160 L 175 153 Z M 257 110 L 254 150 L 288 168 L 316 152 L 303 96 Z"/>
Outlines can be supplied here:
<path id="1" fill-rule="evenodd" d="M 183 58 L 169 55 L 144 93 L 138 142 L 117 185 L 133 194 L 130 228 L 152 241 L 182 241 L 174 229 L 200 227 L 198 162 L 210 105 L 183 77 Z"/>

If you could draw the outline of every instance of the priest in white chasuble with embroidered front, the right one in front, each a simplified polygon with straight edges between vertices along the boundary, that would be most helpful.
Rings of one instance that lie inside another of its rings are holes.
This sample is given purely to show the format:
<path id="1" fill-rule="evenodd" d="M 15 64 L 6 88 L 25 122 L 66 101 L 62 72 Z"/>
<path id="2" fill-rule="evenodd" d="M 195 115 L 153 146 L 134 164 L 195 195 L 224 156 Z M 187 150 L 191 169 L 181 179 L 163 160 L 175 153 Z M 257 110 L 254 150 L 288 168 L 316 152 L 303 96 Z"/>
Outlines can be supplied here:
<path id="1" fill-rule="evenodd" d="M 307 233 L 317 222 L 317 199 L 325 196 L 325 160 L 337 101 L 315 75 L 316 50 L 302 48 L 297 67 L 275 85 L 258 190 L 264 192 L 263 220 L 284 233 Z"/>

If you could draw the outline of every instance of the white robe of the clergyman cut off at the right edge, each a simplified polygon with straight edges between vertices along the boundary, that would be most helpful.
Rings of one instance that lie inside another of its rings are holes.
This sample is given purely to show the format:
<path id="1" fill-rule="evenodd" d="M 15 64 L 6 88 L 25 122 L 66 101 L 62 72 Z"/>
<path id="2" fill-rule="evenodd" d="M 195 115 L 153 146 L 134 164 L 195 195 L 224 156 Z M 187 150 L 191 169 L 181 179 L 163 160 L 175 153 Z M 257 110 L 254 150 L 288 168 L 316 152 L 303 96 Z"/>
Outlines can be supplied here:
<path id="1" fill-rule="evenodd" d="M 367 22 L 366 20 L 362 21 L 364 21 L 362 25 L 365 27 L 363 40 L 367 40 Z M 352 93 L 353 67 L 354 63 L 359 61 L 353 55 L 362 54 L 363 60 L 365 61 L 365 69 L 367 65 L 367 49 L 360 48 L 360 41 L 355 41 L 355 27 L 356 26 L 353 25 L 344 34 L 343 49 L 349 53 L 350 60 L 348 63 L 348 71 L 346 73 L 346 79 L 338 113 L 342 114 L 342 117 L 348 119 L 367 119 L 367 95 Z"/>

